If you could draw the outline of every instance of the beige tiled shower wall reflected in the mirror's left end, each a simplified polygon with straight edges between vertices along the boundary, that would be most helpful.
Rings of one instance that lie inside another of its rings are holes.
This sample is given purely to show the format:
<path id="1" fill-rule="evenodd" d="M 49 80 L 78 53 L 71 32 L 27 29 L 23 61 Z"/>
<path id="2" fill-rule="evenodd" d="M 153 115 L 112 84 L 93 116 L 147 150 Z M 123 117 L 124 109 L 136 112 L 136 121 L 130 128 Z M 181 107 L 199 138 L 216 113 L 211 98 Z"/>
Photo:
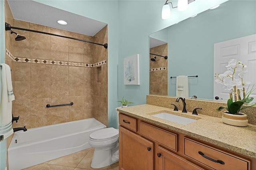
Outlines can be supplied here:
<path id="1" fill-rule="evenodd" d="M 150 53 L 166 56 L 168 55 L 168 44 L 158 45 L 150 48 Z M 150 59 L 156 55 L 150 54 Z M 155 95 L 168 95 L 168 59 L 156 56 L 156 61 L 150 62 L 149 93 Z"/>

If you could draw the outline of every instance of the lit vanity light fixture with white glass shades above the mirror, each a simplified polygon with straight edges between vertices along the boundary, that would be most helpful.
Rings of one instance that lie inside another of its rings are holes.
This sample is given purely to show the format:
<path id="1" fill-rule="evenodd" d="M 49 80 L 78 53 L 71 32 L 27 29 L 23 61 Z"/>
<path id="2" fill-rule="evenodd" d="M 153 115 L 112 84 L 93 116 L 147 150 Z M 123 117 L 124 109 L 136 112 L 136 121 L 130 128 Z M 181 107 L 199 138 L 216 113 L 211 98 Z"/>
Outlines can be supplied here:
<path id="1" fill-rule="evenodd" d="M 162 19 L 166 20 L 168 18 L 170 18 L 171 16 L 171 10 L 170 10 L 170 5 L 172 5 L 172 2 L 167 2 L 168 0 L 166 0 L 163 8 L 162 8 Z M 184 11 L 187 9 L 188 4 L 190 4 L 191 2 L 194 2 L 195 0 L 178 0 L 178 6 L 173 7 L 172 8 L 177 8 L 178 7 L 178 11 Z"/>

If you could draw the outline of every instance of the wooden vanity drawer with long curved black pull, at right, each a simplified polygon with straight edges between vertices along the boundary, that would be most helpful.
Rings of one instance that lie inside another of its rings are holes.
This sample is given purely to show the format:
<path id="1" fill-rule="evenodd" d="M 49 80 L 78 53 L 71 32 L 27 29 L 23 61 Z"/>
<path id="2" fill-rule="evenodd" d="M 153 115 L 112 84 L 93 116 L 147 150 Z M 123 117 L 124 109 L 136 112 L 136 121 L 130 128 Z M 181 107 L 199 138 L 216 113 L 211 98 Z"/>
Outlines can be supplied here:
<path id="1" fill-rule="evenodd" d="M 216 170 L 250 170 L 250 160 L 186 137 L 184 138 L 184 155 Z"/>

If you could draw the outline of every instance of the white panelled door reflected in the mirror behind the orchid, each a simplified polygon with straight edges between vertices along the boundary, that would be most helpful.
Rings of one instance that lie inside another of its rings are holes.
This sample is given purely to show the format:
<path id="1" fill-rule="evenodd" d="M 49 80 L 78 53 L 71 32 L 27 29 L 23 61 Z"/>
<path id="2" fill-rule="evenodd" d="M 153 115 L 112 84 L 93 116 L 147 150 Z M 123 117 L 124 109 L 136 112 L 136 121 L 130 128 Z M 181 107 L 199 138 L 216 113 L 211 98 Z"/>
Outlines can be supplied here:
<path id="1" fill-rule="evenodd" d="M 214 73 L 221 74 L 227 71 L 225 66 L 230 59 L 237 59 L 247 65 L 248 73 L 243 80 L 251 82 L 250 88 L 253 84 L 256 88 L 256 34 L 214 44 Z M 229 99 L 229 91 L 216 82 L 213 95 L 214 99 L 216 96 L 220 99 Z M 254 97 L 253 102 L 256 102 L 256 90 L 250 97 Z"/>

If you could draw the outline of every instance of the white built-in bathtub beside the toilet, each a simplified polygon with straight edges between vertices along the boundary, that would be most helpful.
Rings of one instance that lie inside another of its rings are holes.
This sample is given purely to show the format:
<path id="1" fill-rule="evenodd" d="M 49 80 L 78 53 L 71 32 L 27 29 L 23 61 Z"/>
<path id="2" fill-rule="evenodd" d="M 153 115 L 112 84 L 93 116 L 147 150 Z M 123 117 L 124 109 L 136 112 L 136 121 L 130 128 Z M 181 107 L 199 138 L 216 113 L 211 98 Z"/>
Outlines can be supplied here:
<path id="1" fill-rule="evenodd" d="M 106 126 L 94 118 L 15 132 L 8 148 L 9 170 L 36 164 L 90 148 L 89 135 Z"/>

